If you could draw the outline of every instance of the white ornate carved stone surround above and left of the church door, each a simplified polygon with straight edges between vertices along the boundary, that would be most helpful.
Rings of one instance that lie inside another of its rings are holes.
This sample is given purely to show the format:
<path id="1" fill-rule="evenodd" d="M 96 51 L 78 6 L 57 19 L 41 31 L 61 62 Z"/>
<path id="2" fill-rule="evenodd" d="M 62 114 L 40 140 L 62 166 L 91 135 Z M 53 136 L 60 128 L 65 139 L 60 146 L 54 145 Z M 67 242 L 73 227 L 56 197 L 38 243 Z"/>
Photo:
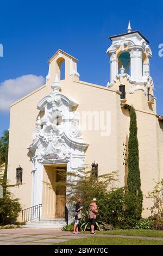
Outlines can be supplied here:
<path id="1" fill-rule="evenodd" d="M 73 107 L 78 103 L 59 92 L 58 75 L 52 93 L 43 97 L 37 108 L 43 113 L 36 121 L 33 143 L 29 147 L 33 162 L 32 206 L 42 204 L 43 165 L 66 163 L 68 172 L 84 167 L 84 143 Z"/>

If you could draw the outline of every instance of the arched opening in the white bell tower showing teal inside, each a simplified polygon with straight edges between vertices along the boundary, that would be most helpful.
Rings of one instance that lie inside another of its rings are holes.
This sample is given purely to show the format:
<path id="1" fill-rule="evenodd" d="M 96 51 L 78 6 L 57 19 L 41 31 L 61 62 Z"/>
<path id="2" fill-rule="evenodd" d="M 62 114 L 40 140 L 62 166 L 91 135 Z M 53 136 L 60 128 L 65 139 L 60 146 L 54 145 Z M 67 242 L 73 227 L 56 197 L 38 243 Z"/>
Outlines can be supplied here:
<path id="1" fill-rule="evenodd" d="M 125 69 L 124 73 L 130 75 L 130 54 L 129 52 L 122 52 L 118 57 L 118 73 L 120 74 L 120 69 Z"/>

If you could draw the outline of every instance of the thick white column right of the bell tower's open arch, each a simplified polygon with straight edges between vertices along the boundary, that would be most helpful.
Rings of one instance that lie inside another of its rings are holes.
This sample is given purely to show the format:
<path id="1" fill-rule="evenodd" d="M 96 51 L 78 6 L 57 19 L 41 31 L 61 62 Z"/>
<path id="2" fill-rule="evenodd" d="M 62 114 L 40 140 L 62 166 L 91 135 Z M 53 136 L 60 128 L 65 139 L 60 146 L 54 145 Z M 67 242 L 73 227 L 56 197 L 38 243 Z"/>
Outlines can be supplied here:
<path id="1" fill-rule="evenodd" d="M 130 50 L 130 76 L 132 80 L 142 78 L 142 48 L 128 47 Z"/>

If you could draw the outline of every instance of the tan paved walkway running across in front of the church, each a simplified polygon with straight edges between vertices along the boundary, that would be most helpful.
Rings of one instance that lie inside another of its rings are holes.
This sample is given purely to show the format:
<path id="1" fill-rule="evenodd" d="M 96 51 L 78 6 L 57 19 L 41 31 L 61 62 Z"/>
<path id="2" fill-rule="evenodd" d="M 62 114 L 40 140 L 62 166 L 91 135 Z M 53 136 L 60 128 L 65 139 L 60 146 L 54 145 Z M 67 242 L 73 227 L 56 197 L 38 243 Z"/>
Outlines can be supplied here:
<path id="1" fill-rule="evenodd" d="M 73 235 L 69 231 L 45 230 L 45 229 L 0 229 L 0 245 L 52 245 L 79 237 L 89 237 L 91 234 Z M 99 237 L 124 237 L 147 240 L 161 240 L 163 237 L 128 236 L 128 235 L 102 235 Z"/>

